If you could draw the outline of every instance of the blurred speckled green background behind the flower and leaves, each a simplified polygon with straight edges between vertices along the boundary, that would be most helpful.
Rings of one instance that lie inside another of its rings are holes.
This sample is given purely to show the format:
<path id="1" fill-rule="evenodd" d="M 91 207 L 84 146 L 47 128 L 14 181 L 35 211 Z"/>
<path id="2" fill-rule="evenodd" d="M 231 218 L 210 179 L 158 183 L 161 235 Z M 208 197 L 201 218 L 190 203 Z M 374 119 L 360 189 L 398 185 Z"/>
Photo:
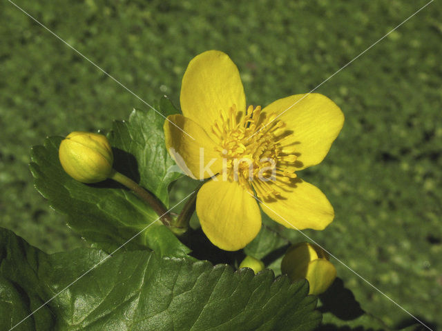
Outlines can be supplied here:
<path id="1" fill-rule="evenodd" d="M 148 103 L 167 94 L 177 106 L 204 50 L 227 52 L 248 103 L 265 106 L 309 92 L 426 2 L 15 1 Z M 306 233 L 431 325 L 442 325 L 441 14 L 434 1 L 318 88 L 346 122 L 325 161 L 300 174 L 336 210 L 327 230 Z M 34 190 L 30 146 L 108 130 L 146 105 L 6 0 L 0 19 L 0 226 L 46 252 L 84 245 Z M 365 310 L 407 323 L 335 265 Z"/>

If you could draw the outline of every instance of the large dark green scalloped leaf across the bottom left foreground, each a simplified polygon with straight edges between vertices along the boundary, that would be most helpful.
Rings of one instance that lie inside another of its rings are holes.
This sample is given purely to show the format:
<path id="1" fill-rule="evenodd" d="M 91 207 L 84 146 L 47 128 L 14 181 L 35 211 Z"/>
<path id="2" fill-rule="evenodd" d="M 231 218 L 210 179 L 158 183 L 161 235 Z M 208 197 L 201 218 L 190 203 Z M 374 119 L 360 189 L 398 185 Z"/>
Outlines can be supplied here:
<path id="1" fill-rule="evenodd" d="M 12 328 L 81 274 L 15 330 L 288 331 L 313 330 L 320 323 L 307 283 L 275 279 L 271 270 L 235 272 L 228 265 L 146 250 L 111 257 L 93 248 L 47 255 L 4 229 L 0 253 L 3 292 L 11 306 L 20 308 L 0 311 L 1 330 Z"/>

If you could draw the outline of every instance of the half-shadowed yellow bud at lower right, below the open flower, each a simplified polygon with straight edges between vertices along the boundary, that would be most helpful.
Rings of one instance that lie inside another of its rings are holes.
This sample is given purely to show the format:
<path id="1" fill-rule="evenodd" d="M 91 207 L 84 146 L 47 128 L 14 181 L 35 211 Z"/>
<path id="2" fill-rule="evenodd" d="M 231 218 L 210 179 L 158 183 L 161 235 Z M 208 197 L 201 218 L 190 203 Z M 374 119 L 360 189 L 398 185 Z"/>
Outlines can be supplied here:
<path id="1" fill-rule="evenodd" d="M 309 294 L 321 294 L 332 285 L 336 269 L 329 261 L 329 254 L 313 243 L 292 245 L 281 262 L 281 272 L 292 281 L 307 279 Z"/>

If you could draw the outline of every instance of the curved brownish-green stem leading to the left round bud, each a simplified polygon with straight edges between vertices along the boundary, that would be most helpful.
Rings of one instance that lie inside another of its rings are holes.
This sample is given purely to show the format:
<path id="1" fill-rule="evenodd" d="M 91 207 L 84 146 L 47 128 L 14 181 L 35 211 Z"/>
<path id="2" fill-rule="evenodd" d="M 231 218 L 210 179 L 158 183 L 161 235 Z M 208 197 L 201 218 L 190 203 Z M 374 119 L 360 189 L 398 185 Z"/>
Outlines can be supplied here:
<path id="1" fill-rule="evenodd" d="M 135 181 L 124 176 L 124 174 L 117 172 L 116 170 L 113 171 L 113 174 L 111 174 L 109 178 L 126 186 L 126 188 L 133 190 L 133 192 L 135 192 L 138 197 L 140 197 L 152 207 L 152 209 L 157 213 L 164 225 L 170 226 L 171 223 L 173 223 L 171 214 L 169 214 L 168 210 L 166 210 L 161 201 L 159 201 L 157 197 L 155 197 L 155 195 L 153 195 L 151 192 L 144 190 L 144 188 L 135 183 Z"/>

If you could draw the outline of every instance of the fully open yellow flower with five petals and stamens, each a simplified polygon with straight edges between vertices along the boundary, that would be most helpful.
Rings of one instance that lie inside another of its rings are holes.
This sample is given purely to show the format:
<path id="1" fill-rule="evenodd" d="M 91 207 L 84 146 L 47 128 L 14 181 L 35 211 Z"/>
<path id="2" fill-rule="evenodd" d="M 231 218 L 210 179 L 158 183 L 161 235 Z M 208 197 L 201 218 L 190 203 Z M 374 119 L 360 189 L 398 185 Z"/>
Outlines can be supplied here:
<path id="1" fill-rule="evenodd" d="M 196 203 L 212 243 L 239 250 L 256 237 L 261 215 L 253 194 L 287 228 L 323 230 L 332 222 L 323 192 L 295 172 L 320 163 L 338 136 L 344 116 L 333 101 L 296 94 L 247 108 L 238 68 L 227 54 L 209 50 L 189 63 L 180 103 L 183 115 L 164 123 L 166 147 L 189 176 L 216 175 Z"/>

